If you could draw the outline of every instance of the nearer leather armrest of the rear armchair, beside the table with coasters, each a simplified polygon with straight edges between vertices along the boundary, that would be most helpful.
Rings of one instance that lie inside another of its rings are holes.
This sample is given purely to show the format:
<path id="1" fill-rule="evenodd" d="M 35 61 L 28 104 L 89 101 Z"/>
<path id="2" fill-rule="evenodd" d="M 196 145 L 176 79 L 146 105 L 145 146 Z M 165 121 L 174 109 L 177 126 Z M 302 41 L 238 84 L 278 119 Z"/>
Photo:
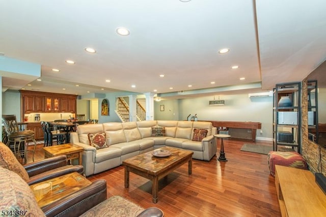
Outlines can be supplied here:
<path id="1" fill-rule="evenodd" d="M 84 167 L 82 165 L 67 165 L 64 167 L 59 167 L 53 170 L 49 170 L 47 172 L 43 172 L 41 174 L 37 174 L 35 176 L 30 176 L 30 180 L 27 182 L 29 185 L 39 183 L 41 181 L 45 181 L 51 178 L 56 178 L 65 174 L 78 172 L 80 174 L 83 174 Z"/>

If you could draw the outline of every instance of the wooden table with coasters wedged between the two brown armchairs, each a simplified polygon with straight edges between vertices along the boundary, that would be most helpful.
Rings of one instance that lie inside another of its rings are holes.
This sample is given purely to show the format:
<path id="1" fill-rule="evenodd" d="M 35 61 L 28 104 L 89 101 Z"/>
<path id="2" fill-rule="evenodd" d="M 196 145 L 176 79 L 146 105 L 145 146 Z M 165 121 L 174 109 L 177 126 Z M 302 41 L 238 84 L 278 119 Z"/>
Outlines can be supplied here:
<path id="1" fill-rule="evenodd" d="M 52 178 L 30 186 L 39 207 L 44 207 L 74 192 L 84 189 L 92 182 L 77 172 Z"/>

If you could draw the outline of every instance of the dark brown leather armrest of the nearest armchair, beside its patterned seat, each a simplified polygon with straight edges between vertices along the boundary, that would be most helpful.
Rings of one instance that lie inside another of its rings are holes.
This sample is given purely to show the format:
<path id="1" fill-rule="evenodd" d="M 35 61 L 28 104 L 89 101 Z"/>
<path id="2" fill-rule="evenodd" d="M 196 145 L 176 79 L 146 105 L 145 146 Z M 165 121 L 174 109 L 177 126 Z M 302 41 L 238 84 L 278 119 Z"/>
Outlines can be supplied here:
<path id="1" fill-rule="evenodd" d="M 46 216 L 79 216 L 106 200 L 106 181 L 98 179 L 88 187 L 42 208 Z"/>

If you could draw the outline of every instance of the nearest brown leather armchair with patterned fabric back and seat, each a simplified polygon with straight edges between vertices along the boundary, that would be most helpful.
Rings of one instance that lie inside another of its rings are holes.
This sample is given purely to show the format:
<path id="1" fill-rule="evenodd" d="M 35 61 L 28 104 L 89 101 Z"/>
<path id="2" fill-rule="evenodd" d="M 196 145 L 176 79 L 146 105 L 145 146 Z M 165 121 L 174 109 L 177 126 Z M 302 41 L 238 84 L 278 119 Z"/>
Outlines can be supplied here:
<path id="1" fill-rule="evenodd" d="M 106 199 L 104 179 L 40 208 L 29 185 L 18 174 L 0 167 L 0 195 L 0 209 L 8 211 L 7 215 L 119 216 L 124 213 L 124 216 L 163 216 L 160 209 L 144 209 L 120 196 Z M 110 211 L 114 214 L 106 215 Z"/>

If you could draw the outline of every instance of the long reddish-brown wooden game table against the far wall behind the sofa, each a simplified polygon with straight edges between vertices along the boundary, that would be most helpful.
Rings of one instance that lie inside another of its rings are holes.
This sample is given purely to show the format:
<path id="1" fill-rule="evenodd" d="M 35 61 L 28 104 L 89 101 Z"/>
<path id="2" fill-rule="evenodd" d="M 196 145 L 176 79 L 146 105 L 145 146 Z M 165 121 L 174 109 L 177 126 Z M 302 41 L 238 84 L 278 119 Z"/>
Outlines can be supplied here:
<path id="1" fill-rule="evenodd" d="M 253 142 L 256 141 L 256 130 L 261 129 L 261 122 L 251 121 L 215 121 L 205 120 L 212 122 L 213 127 L 226 127 L 226 128 L 240 128 L 240 129 L 251 129 L 251 136 Z"/>

